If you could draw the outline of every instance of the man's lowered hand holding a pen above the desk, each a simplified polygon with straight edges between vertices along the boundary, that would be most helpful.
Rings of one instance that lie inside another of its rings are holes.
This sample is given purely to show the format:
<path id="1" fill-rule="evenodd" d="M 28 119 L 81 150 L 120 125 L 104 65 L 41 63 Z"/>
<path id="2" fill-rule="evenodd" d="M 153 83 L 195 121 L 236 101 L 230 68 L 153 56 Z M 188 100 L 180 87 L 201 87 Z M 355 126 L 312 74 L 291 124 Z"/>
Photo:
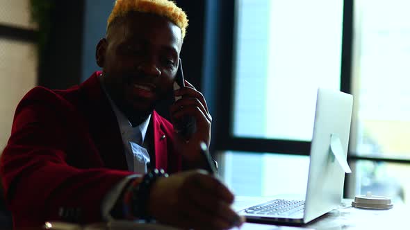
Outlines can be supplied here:
<path id="1" fill-rule="evenodd" d="M 187 229 L 229 229 L 243 219 L 231 209 L 233 194 L 204 170 L 160 177 L 151 188 L 148 212 L 158 222 Z"/>

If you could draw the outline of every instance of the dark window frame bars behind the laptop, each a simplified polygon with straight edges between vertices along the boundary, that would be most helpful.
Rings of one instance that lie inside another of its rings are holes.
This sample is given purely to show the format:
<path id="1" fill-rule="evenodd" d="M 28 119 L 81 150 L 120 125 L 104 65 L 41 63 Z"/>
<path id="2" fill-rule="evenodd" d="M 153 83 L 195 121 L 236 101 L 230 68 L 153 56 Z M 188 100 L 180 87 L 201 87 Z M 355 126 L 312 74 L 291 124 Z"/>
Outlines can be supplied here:
<path id="1" fill-rule="evenodd" d="M 243 138 L 233 136 L 233 95 L 235 86 L 236 56 L 236 0 L 208 1 L 206 32 L 208 37 L 205 44 L 206 55 L 204 71 L 206 78 L 205 96 L 210 98 L 211 112 L 216 114 L 213 121 L 213 152 L 240 151 L 254 154 L 290 154 L 309 156 L 310 141 L 289 141 L 281 139 Z M 218 9 L 218 10 L 215 10 Z M 211 19 L 212 18 L 212 19 Z M 353 33 L 354 33 L 354 0 L 343 1 L 343 37 L 341 53 L 341 91 L 352 94 L 352 60 L 353 60 Z M 211 42 L 209 42 L 211 40 Z M 213 76 L 211 74 L 213 73 Z M 211 78 L 211 79 L 209 79 Z M 208 91 L 206 91 L 208 89 Z M 212 91 L 211 94 L 209 91 Z M 352 132 L 356 132 L 351 129 Z M 218 156 L 219 157 L 219 156 Z M 347 150 L 347 161 L 376 161 L 388 163 L 404 163 L 410 165 L 410 158 L 372 157 Z M 351 184 L 350 175 L 345 178 L 344 196 Z"/>

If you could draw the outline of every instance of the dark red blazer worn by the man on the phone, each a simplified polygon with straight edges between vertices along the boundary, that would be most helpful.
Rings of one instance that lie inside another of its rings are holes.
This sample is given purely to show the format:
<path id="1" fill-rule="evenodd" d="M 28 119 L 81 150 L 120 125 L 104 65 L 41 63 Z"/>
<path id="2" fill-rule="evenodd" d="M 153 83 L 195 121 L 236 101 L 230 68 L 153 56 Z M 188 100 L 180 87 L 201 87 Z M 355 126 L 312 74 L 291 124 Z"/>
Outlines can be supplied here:
<path id="1" fill-rule="evenodd" d="M 8 145 L 0 160 L 6 203 L 15 227 L 47 220 L 101 221 L 101 201 L 127 171 L 120 128 L 99 72 L 67 90 L 35 87 L 17 106 Z M 167 172 L 181 170 L 173 127 L 156 112 L 148 135 L 151 162 Z"/>

